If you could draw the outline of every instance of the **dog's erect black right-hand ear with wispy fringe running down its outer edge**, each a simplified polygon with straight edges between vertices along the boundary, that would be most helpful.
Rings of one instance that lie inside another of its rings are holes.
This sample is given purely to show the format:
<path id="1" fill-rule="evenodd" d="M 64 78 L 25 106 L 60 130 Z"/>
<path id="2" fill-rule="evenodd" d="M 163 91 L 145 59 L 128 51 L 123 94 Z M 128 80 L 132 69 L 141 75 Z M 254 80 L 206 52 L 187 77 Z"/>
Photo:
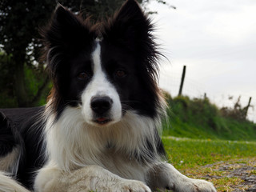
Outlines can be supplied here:
<path id="1" fill-rule="evenodd" d="M 137 55 L 153 78 L 158 77 L 158 50 L 152 34 L 150 18 L 143 13 L 138 2 L 127 0 L 106 24 L 103 40 L 115 43 Z"/>

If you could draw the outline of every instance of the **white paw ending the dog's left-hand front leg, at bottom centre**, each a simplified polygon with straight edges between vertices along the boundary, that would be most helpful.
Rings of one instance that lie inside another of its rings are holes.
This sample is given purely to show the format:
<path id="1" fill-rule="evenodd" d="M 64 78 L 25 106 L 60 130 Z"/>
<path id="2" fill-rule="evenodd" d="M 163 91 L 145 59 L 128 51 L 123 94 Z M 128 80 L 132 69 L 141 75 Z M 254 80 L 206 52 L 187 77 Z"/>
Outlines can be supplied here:
<path id="1" fill-rule="evenodd" d="M 116 183 L 115 192 L 151 192 L 150 188 L 146 186 L 143 182 L 136 180 L 122 180 Z"/>

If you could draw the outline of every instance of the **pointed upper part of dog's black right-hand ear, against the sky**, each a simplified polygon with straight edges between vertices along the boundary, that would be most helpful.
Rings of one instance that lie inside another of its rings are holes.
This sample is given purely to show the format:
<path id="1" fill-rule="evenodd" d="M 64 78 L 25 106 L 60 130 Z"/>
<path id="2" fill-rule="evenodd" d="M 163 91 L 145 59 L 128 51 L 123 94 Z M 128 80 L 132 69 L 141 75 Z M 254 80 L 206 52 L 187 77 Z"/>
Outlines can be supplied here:
<path id="1" fill-rule="evenodd" d="M 106 38 L 111 42 L 126 46 L 130 50 L 154 49 L 152 30 L 153 25 L 143 13 L 138 2 L 127 0 L 121 9 L 114 14 L 114 18 L 111 18 L 107 23 L 105 33 L 102 36 L 103 39 Z"/>

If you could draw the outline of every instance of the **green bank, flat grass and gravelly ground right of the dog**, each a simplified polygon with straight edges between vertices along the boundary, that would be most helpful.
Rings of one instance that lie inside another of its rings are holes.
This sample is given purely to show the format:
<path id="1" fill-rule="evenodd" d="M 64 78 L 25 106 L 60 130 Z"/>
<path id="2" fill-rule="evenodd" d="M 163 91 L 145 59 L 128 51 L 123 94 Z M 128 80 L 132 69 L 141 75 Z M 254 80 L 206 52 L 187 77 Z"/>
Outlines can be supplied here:
<path id="1" fill-rule="evenodd" d="M 213 182 L 218 191 L 246 191 L 251 182 L 256 187 L 256 124 L 241 118 L 245 107 L 218 109 L 207 98 L 169 94 L 166 101 L 162 141 L 168 162 L 190 178 Z"/>

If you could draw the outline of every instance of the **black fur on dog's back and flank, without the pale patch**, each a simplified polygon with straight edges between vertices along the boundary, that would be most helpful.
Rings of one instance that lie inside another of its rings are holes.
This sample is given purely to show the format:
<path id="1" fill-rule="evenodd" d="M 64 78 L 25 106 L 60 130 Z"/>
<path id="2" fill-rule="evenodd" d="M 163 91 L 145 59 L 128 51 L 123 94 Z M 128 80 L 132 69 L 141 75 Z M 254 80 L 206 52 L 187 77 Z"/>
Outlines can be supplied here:
<path id="1" fill-rule="evenodd" d="M 40 120 L 43 110 L 44 107 L 0 110 L 0 114 L 6 117 L 0 121 L 2 122 L 0 126 L 1 154 L 4 151 L 2 149 L 6 148 L 10 153 L 14 146 L 19 146 L 22 156 L 18 165 L 18 173 L 14 176 L 29 189 L 33 186 L 35 171 L 43 166 L 46 158 L 42 147 L 44 122 Z M 3 124 L 6 121 L 9 123 Z M 9 125 L 7 129 L 5 125 Z"/>

